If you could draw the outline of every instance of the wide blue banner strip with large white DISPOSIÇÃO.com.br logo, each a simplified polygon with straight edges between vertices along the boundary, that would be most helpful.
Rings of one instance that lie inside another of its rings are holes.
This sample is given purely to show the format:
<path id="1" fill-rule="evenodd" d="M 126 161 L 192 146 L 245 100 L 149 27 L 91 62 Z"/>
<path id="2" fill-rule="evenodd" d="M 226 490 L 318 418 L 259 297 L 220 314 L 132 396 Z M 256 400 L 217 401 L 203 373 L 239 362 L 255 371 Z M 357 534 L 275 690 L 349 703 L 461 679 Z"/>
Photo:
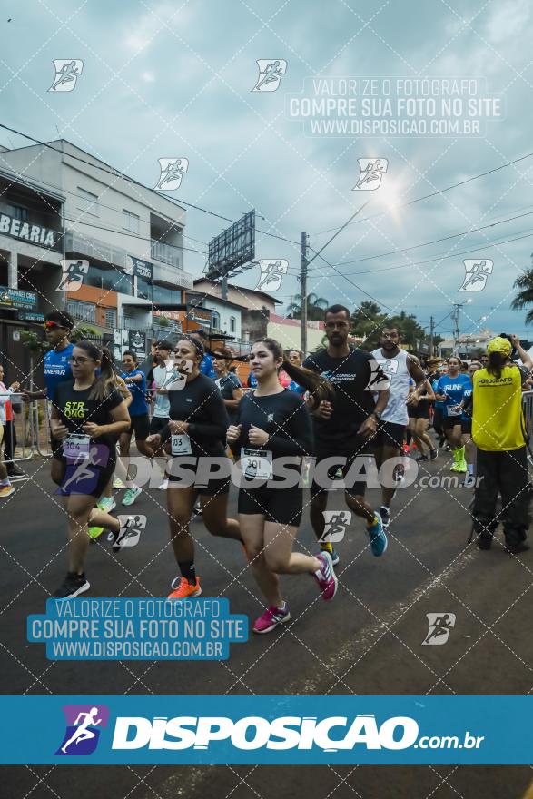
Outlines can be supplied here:
<path id="1" fill-rule="evenodd" d="M 0 764 L 531 764 L 533 696 L 3 696 Z"/>

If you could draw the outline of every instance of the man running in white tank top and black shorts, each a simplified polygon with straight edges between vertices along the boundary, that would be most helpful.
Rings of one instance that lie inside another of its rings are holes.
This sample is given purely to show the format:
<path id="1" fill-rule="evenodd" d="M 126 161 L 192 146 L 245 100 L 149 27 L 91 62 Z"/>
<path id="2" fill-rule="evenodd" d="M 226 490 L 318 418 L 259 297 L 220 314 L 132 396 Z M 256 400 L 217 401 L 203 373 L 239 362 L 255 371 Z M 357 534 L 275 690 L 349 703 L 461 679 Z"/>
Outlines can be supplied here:
<path id="1" fill-rule="evenodd" d="M 390 377 L 390 397 L 387 407 L 380 414 L 380 425 L 372 447 L 378 469 L 391 458 L 398 458 L 405 438 L 408 424 L 407 406 L 418 401 L 418 390 L 424 388 L 426 375 L 420 367 L 419 359 L 400 349 L 400 332 L 396 328 L 383 328 L 380 347 L 372 352 L 381 369 Z M 410 378 L 416 383 L 410 394 Z M 389 526 L 390 500 L 395 488 L 381 486 L 380 516 L 383 526 Z"/>

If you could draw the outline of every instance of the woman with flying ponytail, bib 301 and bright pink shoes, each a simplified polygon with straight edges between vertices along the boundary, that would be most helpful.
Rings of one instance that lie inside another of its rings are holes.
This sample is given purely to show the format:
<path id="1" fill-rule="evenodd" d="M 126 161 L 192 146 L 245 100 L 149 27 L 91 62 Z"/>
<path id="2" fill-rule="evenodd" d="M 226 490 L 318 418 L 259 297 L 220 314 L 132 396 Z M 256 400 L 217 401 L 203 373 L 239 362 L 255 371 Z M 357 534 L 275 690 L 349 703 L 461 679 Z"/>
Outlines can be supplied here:
<path id="1" fill-rule="evenodd" d="M 267 600 L 267 608 L 255 620 L 253 631 L 268 633 L 291 618 L 281 597 L 279 575 L 311 575 L 326 601 L 337 592 L 329 552 L 315 557 L 292 552 L 301 522 L 301 458 L 310 456 L 312 451 L 311 419 L 301 398 L 281 386 L 278 372 L 282 368 L 309 390 L 315 408 L 331 397 L 332 389 L 320 375 L 284 360 L 281 344 L 270 338 L 255 341 L 250 364 L 257 389 L 241 400 L 239 423 L 228 428 L 227 437 L 234 451 L 241 452 L 241 533 L 253 575 Z M 281 465 L 278 459 L 283 459 L 287 469 L 282 477 L 277 469 Z M 292 474 L 287 486 L 289 470 Z M 247 478 L 260 485 L 247 487 Z"/>

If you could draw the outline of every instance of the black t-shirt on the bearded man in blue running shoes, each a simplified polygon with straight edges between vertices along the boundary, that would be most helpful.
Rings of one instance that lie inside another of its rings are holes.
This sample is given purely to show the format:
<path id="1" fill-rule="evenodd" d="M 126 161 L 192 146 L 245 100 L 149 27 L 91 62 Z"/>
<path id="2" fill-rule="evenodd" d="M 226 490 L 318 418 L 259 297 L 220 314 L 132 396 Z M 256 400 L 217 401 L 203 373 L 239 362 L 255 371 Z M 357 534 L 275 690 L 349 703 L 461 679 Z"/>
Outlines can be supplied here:
<path id="1" fill-rule="evenodd" d="M 342 358 L 331 358 L 328 350 L 319 350 L 304 360 L 305 369 L 319 372 L 335 387 L 330 400 L 331 418 L 312 418 L 318 449 L 331 452 L 351 449 L 350 441 L 376 407 L 372 391 L 365 390 L 370 382 L 372 360 L 370 352 L 359 349 L 350 350 Z"/>

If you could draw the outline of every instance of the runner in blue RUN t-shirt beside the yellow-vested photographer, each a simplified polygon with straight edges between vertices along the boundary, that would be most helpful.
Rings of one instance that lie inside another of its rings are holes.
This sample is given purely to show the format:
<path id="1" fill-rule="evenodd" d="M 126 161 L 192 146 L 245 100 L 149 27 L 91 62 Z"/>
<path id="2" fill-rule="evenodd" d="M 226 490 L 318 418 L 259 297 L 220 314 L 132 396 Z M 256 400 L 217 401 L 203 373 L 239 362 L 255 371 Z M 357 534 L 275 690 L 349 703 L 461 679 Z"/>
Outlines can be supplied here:
<path id="1" fill-rule="evenodd" d="M 465 448 L 461 442 L 461 416 L 465 390 L 472 389 L 472 382 L 468 375 L 460 373 L 461 362 L 456 355 L 450 355 L 446 363 L 448 365 L 447 373 L 437 381 L 435 399 L 444 403 L 442 427 L 453 452 L 454 461 L 450 469 L 464 474 L 467 471 L 467 462 Z"/>

